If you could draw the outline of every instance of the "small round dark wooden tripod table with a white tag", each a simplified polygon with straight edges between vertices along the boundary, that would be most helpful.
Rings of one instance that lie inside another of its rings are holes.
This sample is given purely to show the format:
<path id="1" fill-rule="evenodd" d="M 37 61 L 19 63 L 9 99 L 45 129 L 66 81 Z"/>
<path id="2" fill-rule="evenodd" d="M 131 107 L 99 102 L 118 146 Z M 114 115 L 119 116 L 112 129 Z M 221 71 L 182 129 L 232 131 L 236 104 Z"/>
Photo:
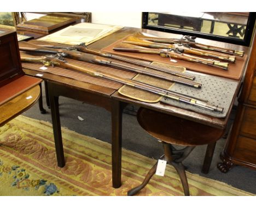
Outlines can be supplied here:
<path id="1" fill-rule="evenodd" d="M 216 141 L 223 136 L 225 130 L 146 108 L 139 108 L 137 120 L 144 130 L 162 143 L 164 155 L 161 158 L 164 158 L 167 164 L 171 164 L 177 170 L 182 182 L 184 195 L 189 195 L 187 175 L 182 161 L 189 156 L 195 146 L 208 144 L 202 168 L 202 172 L 208 173 Z M 173 144 L 185 147 L 176 149 Z M 142 184 L 132 188 L 127 195 L 135 195 L 147 185 L 156 172 L 157 164 L 156 162 L 149 170 Z"/>

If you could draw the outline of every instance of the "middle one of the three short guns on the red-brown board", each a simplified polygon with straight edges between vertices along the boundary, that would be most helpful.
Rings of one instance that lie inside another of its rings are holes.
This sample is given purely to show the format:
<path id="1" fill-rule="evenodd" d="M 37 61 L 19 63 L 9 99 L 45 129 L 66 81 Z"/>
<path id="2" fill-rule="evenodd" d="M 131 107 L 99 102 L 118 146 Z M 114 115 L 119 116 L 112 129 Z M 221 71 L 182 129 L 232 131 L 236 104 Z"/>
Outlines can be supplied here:
<path id="1" fill-rule="evenodd" d="M 208 56 L 212 58 L 217 58 L 221 60 L 225 60 L 227 62 L 235 63 L 236 57 L 235 56 L 227 56 L 226 54 L 220 55 L 214 52 L 208 52 L 199 48 L 192 48 L 192 47 L 184 47 L 181 44 L 164 44 L 164 43 L 155 43 L 154 41 L 149 41 L 142 38 L 136 38 L 135 36 L 128 36 L 124 41 L 127 44 L 133 44 L 137 46 L 143 46 L 148 48 L 165 48 L 171 49 L 174 51 L 179 51 L 181 53 L 190 53 L 196 56 Z"/>

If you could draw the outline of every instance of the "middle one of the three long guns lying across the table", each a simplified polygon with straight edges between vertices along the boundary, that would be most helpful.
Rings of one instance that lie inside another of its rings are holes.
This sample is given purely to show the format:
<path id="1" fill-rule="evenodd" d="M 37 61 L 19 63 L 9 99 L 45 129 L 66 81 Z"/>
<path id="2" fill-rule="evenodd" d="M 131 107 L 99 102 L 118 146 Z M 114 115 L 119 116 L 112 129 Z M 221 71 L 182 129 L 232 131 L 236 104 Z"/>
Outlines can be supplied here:
<path id="1" fill-rule="evenodd" d="M 176 76 L 172 75 L 163 75 L 160 74 L 159 72 L 152 72 L 147 69 L 144 69 L 139 66 L 134 66 L 134 65 L 128 65 L 125 63 L 120 63 L 120 62 L 115 62 L 111 59 L 100 59 L 98 57 L 95 57 L 92 54 L 88 53 L 82 53 L 79 51 L 68 51 L 68 50 L 63 50 L 61 48 L 46 48 L 46 47 L 40 47 L 35 44 L 31 44 L 25 41 L 19 42 L 19 49 L 21 51 L 27 51 L 27 52 L 37 52 L 37 53 L 50 53 L 50 54 L 58 54 L 59 56 L 75 59 L 75 60 L 81 60 L 83 62 L 88 62 L 92 64 L 101 64 L 101 65 L 106 65 L 106 66 L 111 66 L 119 69 L 124 69 L 128 71 L 133 71 L 137 72 L 138 74 L 142 75 L 148 75 L 156 78 L 161 78 L 165 79 L 167 81 L 171 82 L 176 82 L 179 84 L 185 84 L 189 85 L 190 87 L 195 87 L 195 88 L 201 88 L 202 84 L 201 83 L 196 83 L 193 81 L 189 81 L 187 79 L 179 78 Z"/>

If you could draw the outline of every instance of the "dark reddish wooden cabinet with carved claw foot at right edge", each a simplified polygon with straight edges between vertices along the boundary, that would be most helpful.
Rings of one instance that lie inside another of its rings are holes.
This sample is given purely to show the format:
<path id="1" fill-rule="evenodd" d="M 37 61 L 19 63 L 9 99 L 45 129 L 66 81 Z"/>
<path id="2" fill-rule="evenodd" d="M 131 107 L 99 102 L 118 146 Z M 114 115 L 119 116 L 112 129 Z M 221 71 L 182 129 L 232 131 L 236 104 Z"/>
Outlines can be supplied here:
<path id="1" fill-rule="evenodd" d="M 256 40 L 252 44 L 236 118 L 220 155 L 223 173 L 238 164 L 256 170 Z"/>

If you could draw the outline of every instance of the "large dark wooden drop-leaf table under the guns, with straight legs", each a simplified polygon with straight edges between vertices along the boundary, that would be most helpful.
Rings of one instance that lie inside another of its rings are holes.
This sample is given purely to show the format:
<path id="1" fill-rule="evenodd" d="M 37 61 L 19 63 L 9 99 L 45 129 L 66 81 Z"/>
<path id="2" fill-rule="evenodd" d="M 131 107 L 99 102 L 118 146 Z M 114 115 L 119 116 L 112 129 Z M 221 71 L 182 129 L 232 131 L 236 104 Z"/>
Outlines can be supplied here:
<path id="1" fill-rule="evenodd" d="M 104 47 L 112 44 L 113 42 L 124 38 L 126 35 L 133 34 L 136 32 L 146 32 L 153 35 L 164 36 L 167 33 L 155 32 L 150 30 L 143 30 L 137 28 L 123 28 L 118 32 L 108 35 L 107 37 L 98 40 L 90 44 L 89 48 L 94 48 L 96 50 L 101 50 Z M 170 34 L 169 34 L 170 35 Z M 174 35 L 174 34 L 173 34 Z M 180 35 L 174 35 L 180 36 Z M 209 45 L 217 45 L 224 48 L 238 48 L 239 50 L 245 51 L 248 54 L 249 50 L 247 47 L 238 47 L 231 44 L 224 44 L 216 41 L 203 40 L 204 43 Z M 22 65 L 24 67 L 24 65 Z M 37 76 L 38 71 L 31 69 L 23 69 L 26 75 Z M 245 69 L 243 69 L 245 70 Z M 123 109 L 127 104 L 132 104 L 136 106 L 141 106 L 144 108 L 153 109 L 157 112 L 162 112 L 170 115 L 174 115 L 179 118 L 195 121 L 196 123 L 205 124 L 207 126 L 217 127 L 218 129 L 225 129 L 229 115 L 231 112 L 232 105 L 236 99 L 237 93 L 239 91 L 238 87 L 232 98 L 231 105 L 229 107 L 228 113 L 225 118 L 216 118 L 210 115 L 200 114 L 196 112 L 189 111 L 180 107 L 175 107 L 171 105 L 166 105 L 161 102 L 157 103 L 147 103 L 129 97 L 125 97 L 118 93 L 117 89 L 110 89 L 108 87 L 102 87 L 100 85 L 91 84 L 87 82 L 77 81 L 68 77 L 61 77 L 58 75 L 40 72 L 43 76 L 42 78 L 48 87 L 49 100 L 51 107 L 51 117 L 53 122 L 55 148 L 57 155 L 57 162 L 59 167 L 65 166 L 65 157 L 62 145 L 61 136 L 61 122 L 59 114 L 59 96 L 69 97 L 75 100 L 83 101 L 89 103 L 90 105 L 95 105 L 107 109 L 111 113 L 112 117 L 112 182 L 113 187 L 118 188 L 121 186 L 121 146 L 122 146 L 122 113 Z M 237 80 L 237 83 L 241 83 L 241 78 Z M 238 84 L 239 86 L 240 84 Z M 209 148 L 213 148 L 214 146 Z M 206 161 L 203 165 L 204 168 L 208 169 L 211 161 Z"/>

